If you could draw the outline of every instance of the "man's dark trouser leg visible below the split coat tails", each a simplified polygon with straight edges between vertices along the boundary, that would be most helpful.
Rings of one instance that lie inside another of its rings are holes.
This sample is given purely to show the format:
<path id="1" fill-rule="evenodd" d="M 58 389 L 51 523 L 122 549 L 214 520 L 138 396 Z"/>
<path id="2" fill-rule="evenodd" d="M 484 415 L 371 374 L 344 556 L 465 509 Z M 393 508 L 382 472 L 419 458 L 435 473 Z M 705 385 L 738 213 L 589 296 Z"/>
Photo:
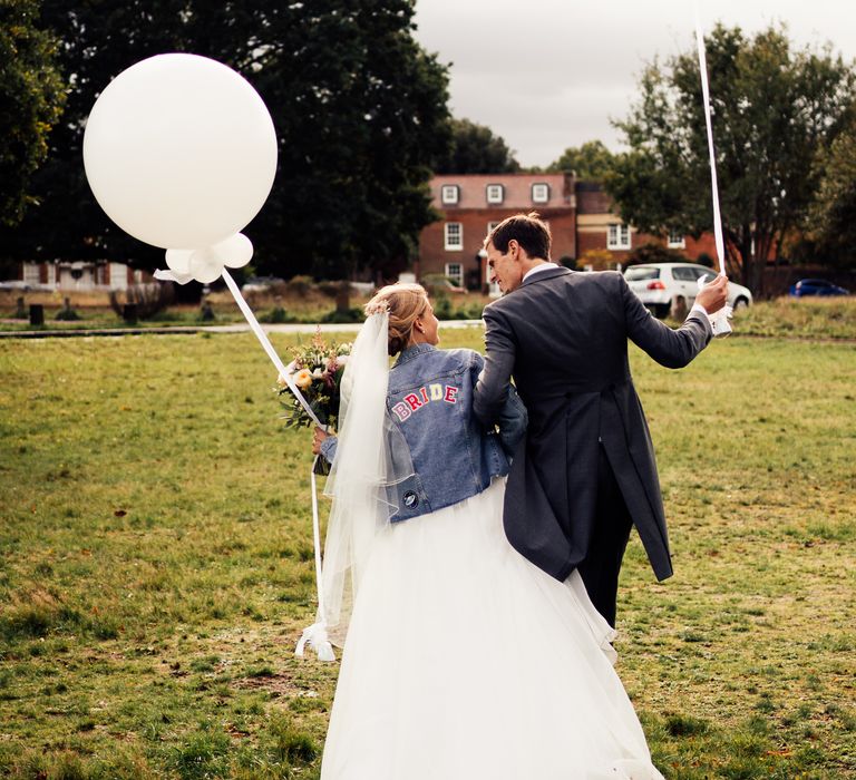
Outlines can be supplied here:
<path id="1" fill-rule="evenodd" d="M 633 520 L 603 445 L 599 450 L 594 526 L 588 552 L 576 568 L 595 608 L 615 627 L 619 572 Z"/>

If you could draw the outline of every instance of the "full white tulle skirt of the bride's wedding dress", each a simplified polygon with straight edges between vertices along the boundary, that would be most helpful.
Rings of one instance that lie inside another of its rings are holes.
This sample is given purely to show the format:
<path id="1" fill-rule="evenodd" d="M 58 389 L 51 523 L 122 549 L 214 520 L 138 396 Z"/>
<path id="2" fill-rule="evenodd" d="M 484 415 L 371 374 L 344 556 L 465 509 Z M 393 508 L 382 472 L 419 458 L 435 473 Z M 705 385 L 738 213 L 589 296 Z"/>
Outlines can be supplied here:
<path id="1" fill-rule="evenodd" d="M 354 604 L 322 780 L 651 780 L 613 633 L 516 553 L 503 480 L 392 525 Z"/>

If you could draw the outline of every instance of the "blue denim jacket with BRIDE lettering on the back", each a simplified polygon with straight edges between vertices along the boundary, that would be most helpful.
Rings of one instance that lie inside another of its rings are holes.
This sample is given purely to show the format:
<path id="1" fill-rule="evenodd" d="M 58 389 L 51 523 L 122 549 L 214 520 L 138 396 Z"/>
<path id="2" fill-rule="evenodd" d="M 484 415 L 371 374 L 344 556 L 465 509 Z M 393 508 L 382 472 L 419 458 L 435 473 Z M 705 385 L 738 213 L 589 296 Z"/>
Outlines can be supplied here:
<path id="1" fill-rule="evenodd" d="M 387 415 L 403 435 L 414 476 L 396 486 L 406 520 L 463 501 L 508 474 L 509 458 L 526 431 L 526 408 L 510 388 L 499 430 L 485 430 L 473 415 L 473 390 L 484 358 L 467 349 L 438 350 L 416 344 L 389 371 Z M 335 438 L 321 445 L 332 462 Z"/>

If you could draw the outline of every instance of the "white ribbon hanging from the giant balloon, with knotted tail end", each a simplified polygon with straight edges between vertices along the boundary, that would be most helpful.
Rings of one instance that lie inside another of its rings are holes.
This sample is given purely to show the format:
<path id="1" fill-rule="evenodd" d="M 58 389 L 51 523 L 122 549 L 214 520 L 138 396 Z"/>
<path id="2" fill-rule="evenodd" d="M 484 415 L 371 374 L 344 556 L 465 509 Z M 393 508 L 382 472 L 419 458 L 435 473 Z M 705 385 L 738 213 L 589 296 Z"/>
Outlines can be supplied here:
<path id="1" fill-rule="evenodd" d="M 280 376 L 289 386 L 289 390 L 294 393 L 294 398 L 298 399 L 298 402 L 301 407 L 303 407 L 310 419 L 319 428 L 327 430 L 327 426 L 321 423 L 321 421 L 318 419 L 318 416 L 312 410 L 312 407 L 309 406 L 309 402 L 303 397 L 303 393 L 298 389 L 298 386 L 294 384 L 294 380 L 291 377 L 291 371 L 285 365 L 283 365 L 282 361 L 280 360 L 280 355 L 276 354 L 276 350 L 274 350 L 273 344 L 271 344 L 271 340 L 268 338 L 268 334 L 264 332 L 264 330 L 262 330 L 262 326 L 255 319 L 253 310 L 250 309 L 246 301 L 244 300 L 244 296 L 241 294 L 241 290 L 239 289 L 237 284 L 235 284 L 235 280 L 232 279 L 232 275 L 225 269 L 223 269 L 223 280 L 228 287 L 228 291 L 232 293 L 232 296 L 235 299 L 237 308 L 246 318 L 246 321 L 250 324 L 250 329 L 253 331 L 253 333 L 255 333 L 255 337 L 261 342 L 262 348 L 268 353 L 268 357 L 271 359 L 273 364 L 279 370 Z M 318 458 L 319 456 L 315 456 L 315 459 L 312 461 L 312 470 L 310 472 L 312 487 L 312 538 L 315 547 L 315 589 L 318 592 L 318 614 L 324 615 L 323 588 L 321 587 L 321 521 L 318 515 L 318 488 L 315 487 L 315 465 L 318 464 Z M 314 623 L 308 628 L 303 630 L 303 634 L 301 635 L 296 650 L 294 651 L 295 654 L 303 655 L 303 649 L 307 644 L 309 644 L 309 646 L 318 653 L 318 657 L 321 661 L 335 661 L 333 647 L 327 637 L 327 626 L 322 621 Z"/>

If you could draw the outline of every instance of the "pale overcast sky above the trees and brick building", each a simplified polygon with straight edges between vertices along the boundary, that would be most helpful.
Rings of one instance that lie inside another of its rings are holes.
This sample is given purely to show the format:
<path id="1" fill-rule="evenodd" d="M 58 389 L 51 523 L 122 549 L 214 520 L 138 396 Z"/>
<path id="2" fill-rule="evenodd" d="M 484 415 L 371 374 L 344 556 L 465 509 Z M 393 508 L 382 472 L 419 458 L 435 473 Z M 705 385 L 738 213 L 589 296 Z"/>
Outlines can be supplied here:
<path id="1" fill-rule="evenodd" d="M 546 166 L 568 146 L 621 148 L 622 119 L 655 56 L 694 47 L 693 0 L 417 0 L 417 39 L 451 64 L 451 110 L 500 135 L 522 165 Z M 714 21 L 751 33 L 784 21 L 799 47 L 829 42 L 856 57 L 853 0 L 698 2 Z"/>

